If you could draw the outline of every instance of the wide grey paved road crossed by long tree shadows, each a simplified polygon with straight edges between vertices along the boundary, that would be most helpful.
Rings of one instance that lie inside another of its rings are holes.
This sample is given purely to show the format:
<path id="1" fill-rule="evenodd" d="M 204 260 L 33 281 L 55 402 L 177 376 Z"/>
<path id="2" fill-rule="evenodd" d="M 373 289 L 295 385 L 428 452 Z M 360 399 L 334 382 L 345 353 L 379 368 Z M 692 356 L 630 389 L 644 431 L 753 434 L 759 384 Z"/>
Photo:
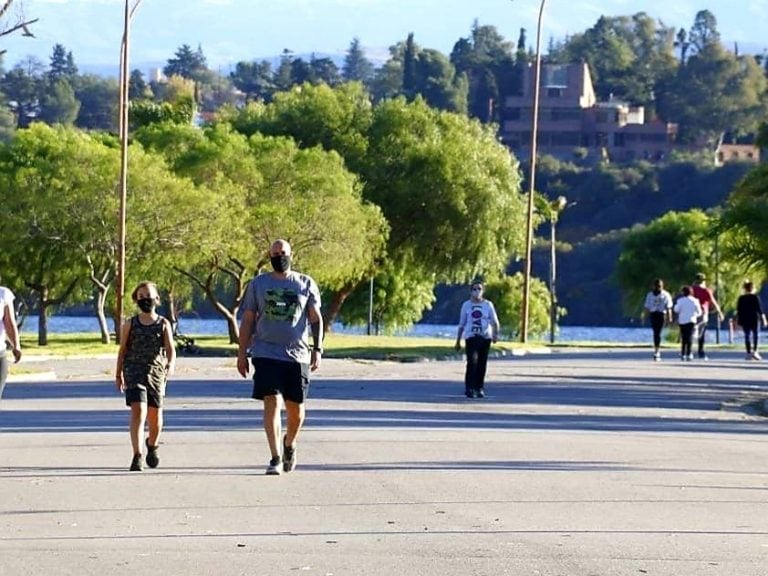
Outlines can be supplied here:
<path id="1" fill-rule="evenodd" d="M 182 358 L 156 470 L 128 473 L 111 359 L 0 404 L 0 576 L 738 575 L 768 571 L 764 363 L 647 351 L 489 365 L 328 360 L 299 466 L 263 475 L 234 359 Z"/>

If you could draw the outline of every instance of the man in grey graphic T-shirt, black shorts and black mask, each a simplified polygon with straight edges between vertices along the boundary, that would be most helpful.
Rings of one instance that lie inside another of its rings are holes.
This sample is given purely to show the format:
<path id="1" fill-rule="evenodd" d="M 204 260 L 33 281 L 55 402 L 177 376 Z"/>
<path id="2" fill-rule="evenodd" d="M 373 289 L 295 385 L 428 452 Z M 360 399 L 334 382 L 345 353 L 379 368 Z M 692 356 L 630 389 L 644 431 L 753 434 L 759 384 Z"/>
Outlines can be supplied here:
<path id="1" fill-rule="evenodd" d="M 320 291 L 311 277 L 291 270 L 291 256 L 286 240 L 272 243 L 269 260 L 273 271 L 259 274 L 248 284 L 240 322 L 237 371 L 243 378 L 248 376 L 250 356 L 252 397 L 264 402 L 264 431 L 271 454 L 266 470 L 269 475 L 296 467 L 296 442 L 306 417 L 309 373 L 320 367 L 323 353 Z M 286 412 L 282 450 L 278 446 L 281 398 Z"/>

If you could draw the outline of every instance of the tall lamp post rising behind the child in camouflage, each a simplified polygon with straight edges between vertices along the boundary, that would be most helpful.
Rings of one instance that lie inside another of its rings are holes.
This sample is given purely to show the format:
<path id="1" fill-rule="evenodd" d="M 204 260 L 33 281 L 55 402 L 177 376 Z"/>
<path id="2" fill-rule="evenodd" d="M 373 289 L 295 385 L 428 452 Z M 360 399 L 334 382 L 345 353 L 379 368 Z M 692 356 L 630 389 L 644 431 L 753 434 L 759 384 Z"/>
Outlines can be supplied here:
<path id="1" fill-rule="evenodd" d="M 118 240 L 117 240 L 117 274 L 115 294 L 115 336 L 120 341 L 120 329 L 123 325 L 123 296 L 125 294 L 125 220 L 128 192 L 128 61 L 130 27 L 133 15 L 141 4 L 141 0 L 134 0 L 133 7 L 129 7 L 129 0 L 125 0 L 125 12 L 123 19 L 123 38 L 120 43 L 120 117 L 118 131 L 120 136 L 120 208 L 118 214 Z"/>

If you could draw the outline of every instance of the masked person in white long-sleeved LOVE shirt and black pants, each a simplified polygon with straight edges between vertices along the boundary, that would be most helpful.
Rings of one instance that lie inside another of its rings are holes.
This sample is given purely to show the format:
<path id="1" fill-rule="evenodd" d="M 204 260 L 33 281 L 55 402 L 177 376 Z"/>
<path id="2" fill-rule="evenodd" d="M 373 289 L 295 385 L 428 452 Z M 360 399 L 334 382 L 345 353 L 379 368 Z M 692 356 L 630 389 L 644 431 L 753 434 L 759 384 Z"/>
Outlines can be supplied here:
<path id="1" fill-rule="evenodd" d="M 485 372 L 491 342 L 499 339 L 499 318 L 493 302 L 483 298 L 482 282 L 473 282 L 470 298 L 461 305 L 459 328 L 456 334 L 456 351 L 461 350 L 461 337 L 467 367 L 464 373 L 464 394 L 467 398 L 485 397 Z"/>

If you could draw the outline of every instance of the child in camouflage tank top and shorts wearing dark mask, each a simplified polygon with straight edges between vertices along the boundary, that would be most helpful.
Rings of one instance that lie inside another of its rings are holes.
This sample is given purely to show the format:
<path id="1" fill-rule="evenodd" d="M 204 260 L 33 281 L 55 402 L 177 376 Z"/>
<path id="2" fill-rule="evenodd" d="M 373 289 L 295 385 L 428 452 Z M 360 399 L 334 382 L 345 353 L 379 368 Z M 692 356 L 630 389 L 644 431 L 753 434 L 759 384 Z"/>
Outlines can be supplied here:
<path id="1" fill-rule="evenodd" d="M 163 398 L 168 377 L 173 375 L 176 364 L 176 348 L 171 323 L 155 311 L 160 304 L 157 286 L 153 282 L 141 282 L 131 298 L 140 312 L 129 318 L 120 330 L 115 383 L 118 392 L 125 393 L 125 403 L 131 408 L 129 431 L 133 459 L 130 470 L 141 472 L 145 422 L 149 428 L 144 440 L 147 465 L 156 468 L 160 463 L 158 445 L 163 430 Z"/>

